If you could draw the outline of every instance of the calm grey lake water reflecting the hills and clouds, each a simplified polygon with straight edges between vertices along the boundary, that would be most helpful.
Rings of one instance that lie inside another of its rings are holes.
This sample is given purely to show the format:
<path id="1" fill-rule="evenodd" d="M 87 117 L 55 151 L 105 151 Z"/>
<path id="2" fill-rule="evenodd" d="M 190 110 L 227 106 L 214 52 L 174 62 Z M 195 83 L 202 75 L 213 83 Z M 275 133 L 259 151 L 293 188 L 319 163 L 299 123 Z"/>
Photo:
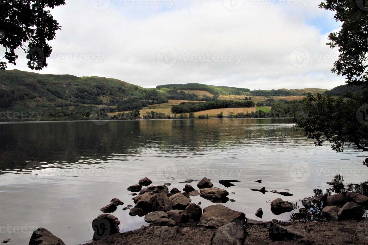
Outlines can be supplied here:
<path id="1" fill-rule="evenodd" d="M 262 220 L 313 213 L 300 199 L 325 192 L 330 188 L 325 182 L 336 174 L 345 184 L 367 181 L 362 151 L 335 153 L 328 144 L 316 148 L 292 127 L 287 119 L 0 124 L 0 239 L 28 244 L 33 230 L 45 227 L 66 244 L 91 241 L 91 222 L 112 198 L 124 202 L 112 213 L 121 221 L 121 232 L 146 225 L 143 217 L 121 210 L 133 204 L 127 187 L 142 177 L 181 190 L 185 184 L 179 181 L 206 176 L 236 200 L 223 205 L 257 220 L 258 208 Z M 223 179 L 241 182 L 225 188 L 218 182 Z M 254 182 L 259 179 L 262 184 Z M 197 188 L 197 183 L 191 185 Z M 250 190 L 262 187 L 294 195 Z M 191 198 L 201 201 L 202 209 L 212 204 Z M 276 198 L 298 208 L 276 216 L 266 202 Z"/>

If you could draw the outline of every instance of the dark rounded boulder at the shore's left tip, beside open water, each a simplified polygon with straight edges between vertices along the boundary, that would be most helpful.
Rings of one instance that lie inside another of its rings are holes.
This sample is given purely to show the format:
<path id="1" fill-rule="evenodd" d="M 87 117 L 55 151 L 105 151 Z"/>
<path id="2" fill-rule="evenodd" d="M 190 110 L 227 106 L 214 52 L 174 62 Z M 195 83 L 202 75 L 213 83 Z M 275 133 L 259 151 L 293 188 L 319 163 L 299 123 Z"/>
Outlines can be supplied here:
<path id="1" fill-rule="evenodd" d="M 93 241 L 103 239 L 109 235 L 119 233 L 120 221 L 117 217 L 109 214 L 99 215 L 92 221 Z"/>

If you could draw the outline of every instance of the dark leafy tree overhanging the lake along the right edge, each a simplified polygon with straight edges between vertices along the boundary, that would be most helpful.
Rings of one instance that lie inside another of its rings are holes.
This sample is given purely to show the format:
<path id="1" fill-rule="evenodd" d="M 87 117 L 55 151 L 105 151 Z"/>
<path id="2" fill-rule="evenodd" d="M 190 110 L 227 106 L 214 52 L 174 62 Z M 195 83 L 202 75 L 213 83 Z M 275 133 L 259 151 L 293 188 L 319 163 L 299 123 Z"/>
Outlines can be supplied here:
<path id="1" fill-rule="evenodd" d="M 311 93 L 304 98 L 304 114 L 295 116 L 296 129 L 302 129 L 316 146 L 331 143 L 340 152 L 348 145 L 368 151 L 368 8 L 363 1 L 326 0 L 319 7 L 335 11 L 342 22 L 340 32 L 329 35 L 331 48 L 339 47 L 339 58 L 331 71 L 346 77 L 348 86 L 362 86 L 360 93 L 334 98 Z"/>

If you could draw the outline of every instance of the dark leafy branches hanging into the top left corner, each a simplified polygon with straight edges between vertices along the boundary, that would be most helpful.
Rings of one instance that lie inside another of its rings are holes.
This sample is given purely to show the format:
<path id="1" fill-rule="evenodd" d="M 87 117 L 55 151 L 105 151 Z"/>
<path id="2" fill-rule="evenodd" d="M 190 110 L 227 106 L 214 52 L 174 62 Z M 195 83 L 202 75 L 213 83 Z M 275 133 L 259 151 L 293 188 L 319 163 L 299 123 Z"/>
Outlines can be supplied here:
<path id="1" fill-rule="evenodd" d="M 50 57 L 52 47 L 47 41 L 55 38 L 60 25 L 50 14 L 50 10 L 65 5 L 65 0 L 1 0 L 0 9 L 0 44 L 5 48 L 5 58 L 16 65 L 17 48 L 27 54 L 28 67 L 40 70 L 47 66 L 46 58 Z M 0 69 L 5 70 L 7 62 L 0 62 Z"/>

